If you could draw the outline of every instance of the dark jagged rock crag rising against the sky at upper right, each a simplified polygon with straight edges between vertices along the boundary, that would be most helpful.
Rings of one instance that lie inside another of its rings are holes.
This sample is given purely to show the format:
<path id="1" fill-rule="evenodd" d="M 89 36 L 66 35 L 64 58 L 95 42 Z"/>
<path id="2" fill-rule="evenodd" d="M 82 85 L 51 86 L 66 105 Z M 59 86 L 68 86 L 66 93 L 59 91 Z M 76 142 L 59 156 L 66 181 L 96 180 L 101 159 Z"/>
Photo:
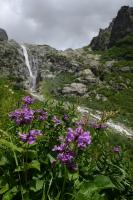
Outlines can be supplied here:
<path id="1" fill-rule="evenodd" d="M 133 34 L 133 7 L 123 6 L 109 27 L 100 29 L 90 46 L 93 50 L 106 50 L 129 34 Z"/>

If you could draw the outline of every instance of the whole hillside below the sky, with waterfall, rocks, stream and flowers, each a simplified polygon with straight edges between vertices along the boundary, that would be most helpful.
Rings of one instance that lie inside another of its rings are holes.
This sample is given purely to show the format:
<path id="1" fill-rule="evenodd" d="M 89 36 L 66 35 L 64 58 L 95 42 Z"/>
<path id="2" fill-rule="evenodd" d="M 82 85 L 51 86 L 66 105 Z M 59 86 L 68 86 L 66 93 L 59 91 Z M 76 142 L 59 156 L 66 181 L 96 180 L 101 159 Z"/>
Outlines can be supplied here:
<path id="1" fill-rule="evenodd" d="M 132 104 L 132 7 L 75 50 L 0 29 L 0 199 L 133 200 Z"/>

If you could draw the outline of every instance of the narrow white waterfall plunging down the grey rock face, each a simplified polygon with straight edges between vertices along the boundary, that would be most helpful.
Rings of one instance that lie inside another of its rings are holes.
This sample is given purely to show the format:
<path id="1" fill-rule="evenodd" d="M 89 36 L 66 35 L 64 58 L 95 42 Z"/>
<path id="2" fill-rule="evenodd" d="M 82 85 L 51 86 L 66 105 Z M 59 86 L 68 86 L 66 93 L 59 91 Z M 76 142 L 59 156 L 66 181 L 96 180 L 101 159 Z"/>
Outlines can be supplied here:
<path id="1" fill-rule="evenodd" d="M 21 45 L 21 48 L 23 50 L 23 54 L 24 54 L 24 58 L 25 58 L 25 64 L 26 64 L 28 71 L 29 71 L 29 74 L 30 74 L 30 90 L 32 92 L 34 92 L 36 90 L 37 71 L 35 72 L 35 74 L 33 74 L 26 46 Z"/>

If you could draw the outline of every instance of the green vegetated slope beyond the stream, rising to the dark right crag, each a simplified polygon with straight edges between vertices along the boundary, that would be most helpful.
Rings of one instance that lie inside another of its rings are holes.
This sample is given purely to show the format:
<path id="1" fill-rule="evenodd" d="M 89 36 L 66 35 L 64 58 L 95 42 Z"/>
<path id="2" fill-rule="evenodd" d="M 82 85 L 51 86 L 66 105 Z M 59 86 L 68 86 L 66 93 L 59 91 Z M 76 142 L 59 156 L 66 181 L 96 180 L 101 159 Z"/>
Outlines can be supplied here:
<path id="1" fill-rule="evenodd" d="M 112 72 L 104 74 L 105 68 L 101 68 L 101 72 L 104 76 L 104 84 L 94 88 L 89 86 L 89 91 L 92 91 L 89 98 L 55 95 L 53 92 L 55 88 L 63 87 L 67 83 L 74 82 L 74 75 L 66 73 L 60 74 L 53 80 L 46 80 L 43 83 L 43 93 L 48 98 L 54 97 L 57 100 L 70 101 L 95 110 L 118 110 L 119 113 L 116 116 L 116 121 L 133 128 L 133 76 L 130 71 L 120 71 L 123 67 L 133 67 L 133 35 L 123 38 L 117 42 L 114 47 L 104 52 L 92 52 L 89 46 L 83 49 L 86 56 L 89 53 L 101 54 L 101 66 L 105 61 L 112 59 L 117 60 L 117 62 L 113 64 Z M 81 58 L 85 59 L 83 56 L 81 56 Z M 108 98 L 108 101 L 97 100 L 93 91 L 95 91 L 96 94 L 104 95 Z"/>

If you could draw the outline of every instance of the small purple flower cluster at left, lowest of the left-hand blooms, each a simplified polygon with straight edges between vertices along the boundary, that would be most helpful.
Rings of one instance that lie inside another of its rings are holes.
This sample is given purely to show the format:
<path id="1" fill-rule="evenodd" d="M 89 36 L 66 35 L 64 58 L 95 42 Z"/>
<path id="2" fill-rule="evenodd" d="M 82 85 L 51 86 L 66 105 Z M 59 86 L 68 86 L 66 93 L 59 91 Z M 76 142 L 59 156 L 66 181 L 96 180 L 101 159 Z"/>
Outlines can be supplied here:
<path id="1" fill-rule="evenodd" d="M 22 133 L 19 135 L 22 142 L 33 144 L 36 142 L 38 136 L 41 136 L 42 132 L 40 130 L 30 130 L 29 133 Z"/>

